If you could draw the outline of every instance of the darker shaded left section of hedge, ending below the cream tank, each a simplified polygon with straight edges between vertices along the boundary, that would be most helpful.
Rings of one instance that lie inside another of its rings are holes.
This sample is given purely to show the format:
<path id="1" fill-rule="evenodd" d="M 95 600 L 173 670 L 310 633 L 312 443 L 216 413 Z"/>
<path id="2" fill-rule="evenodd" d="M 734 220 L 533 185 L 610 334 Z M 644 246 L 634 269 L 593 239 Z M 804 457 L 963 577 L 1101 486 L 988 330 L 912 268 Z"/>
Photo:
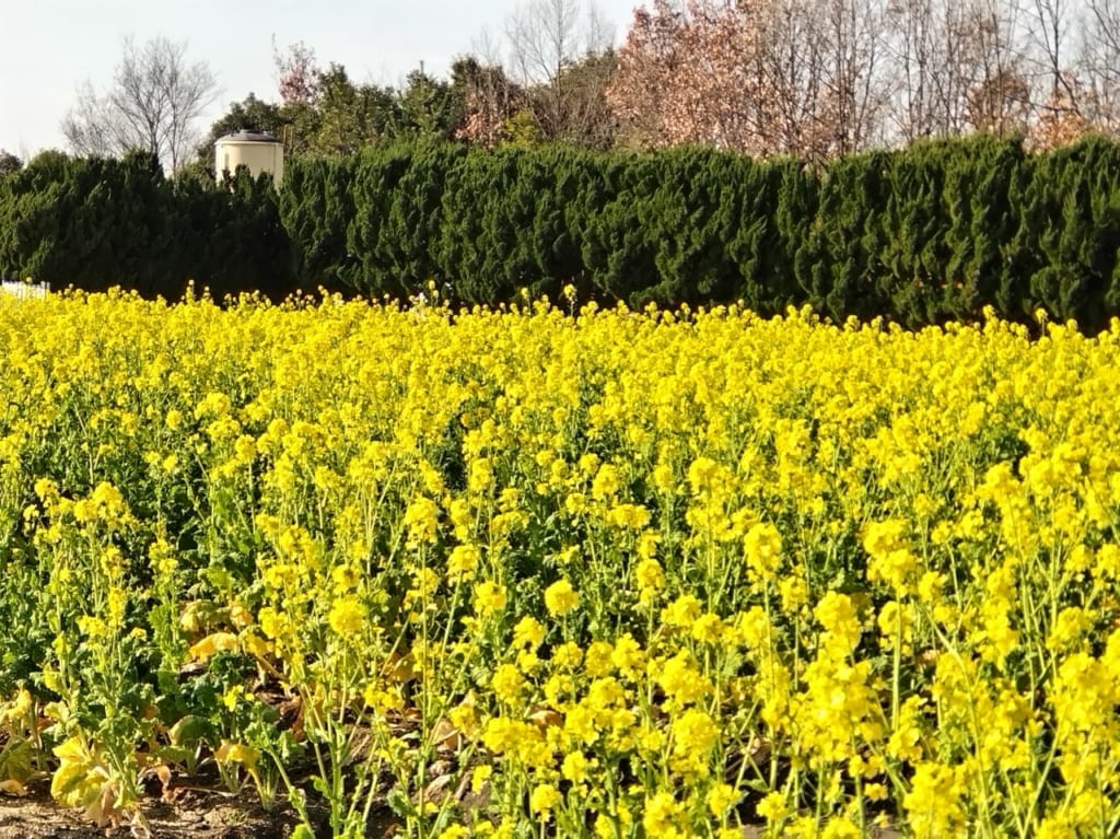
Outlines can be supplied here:
<path id="1" fill-rule="evenodd" d="M 214 297 L 293 287 L 289 236 L 268 178 L 230 189 L 167 180 L 148 155 L 45 152 L 0 180 L 0 274 L 52 288 L 178 299 L 194 280 Z"/>

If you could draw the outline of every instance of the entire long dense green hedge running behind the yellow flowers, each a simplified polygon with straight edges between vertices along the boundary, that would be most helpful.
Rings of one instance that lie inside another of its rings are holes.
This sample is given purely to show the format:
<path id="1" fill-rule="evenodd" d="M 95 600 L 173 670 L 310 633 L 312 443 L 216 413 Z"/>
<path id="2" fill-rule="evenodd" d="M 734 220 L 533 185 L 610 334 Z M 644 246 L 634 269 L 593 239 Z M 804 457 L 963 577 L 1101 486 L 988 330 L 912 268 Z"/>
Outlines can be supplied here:
<path id="1" fill-rule="evenodd" d="M 142 156 L 48 153 L 0 178 L 0 274 L 179 297 L 259 290 L 455 304 L 521 289 L 633 306 L 811 305 L 906 326 L 1120 314 L 1120 145 L 970 138 L 820 168 L 711 149 L 373 147 L 273 192 L 167 180 Z"/>

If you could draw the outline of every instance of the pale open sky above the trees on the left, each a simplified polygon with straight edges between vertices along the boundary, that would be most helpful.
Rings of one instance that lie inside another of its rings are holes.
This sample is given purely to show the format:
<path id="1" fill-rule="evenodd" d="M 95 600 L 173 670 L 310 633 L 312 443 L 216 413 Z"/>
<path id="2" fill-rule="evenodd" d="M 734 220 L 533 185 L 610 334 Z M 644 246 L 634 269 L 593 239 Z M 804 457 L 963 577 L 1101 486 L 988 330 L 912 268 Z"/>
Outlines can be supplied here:
<path id="1" fill-rule="evenodd" d="M 596 0 L 626 32 L 640 0 Z M 206 60 L 222 93 L 205 127 L 250 91 L 276 99 L 272 37 L 283 47 L 302 40 L 324 65 L 346 66 L 351 77 L 399 84 L 411 69 L 445 75 L 451 59 L 470 52 L 486 30 L 504 37 L 519 0 L 0 0 L 0 149 L 27 157 L 64 148 L 59 123 L 75 90 L 88 78 L 111 81 L 121 44 L 156 35 L 187 41 L 187 56 Z"/>

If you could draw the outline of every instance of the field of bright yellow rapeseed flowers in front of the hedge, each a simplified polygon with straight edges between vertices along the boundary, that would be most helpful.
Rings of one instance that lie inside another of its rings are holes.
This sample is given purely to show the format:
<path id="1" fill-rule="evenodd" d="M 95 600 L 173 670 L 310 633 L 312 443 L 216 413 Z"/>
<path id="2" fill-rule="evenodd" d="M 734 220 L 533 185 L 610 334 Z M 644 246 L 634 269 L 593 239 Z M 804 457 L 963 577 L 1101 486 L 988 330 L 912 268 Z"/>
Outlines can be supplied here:
<path id="1" fill-rule="evenodd" d="M 1120 325 L 1043 332 L 0 300 L 0 790 L 1113 836 Z"/>

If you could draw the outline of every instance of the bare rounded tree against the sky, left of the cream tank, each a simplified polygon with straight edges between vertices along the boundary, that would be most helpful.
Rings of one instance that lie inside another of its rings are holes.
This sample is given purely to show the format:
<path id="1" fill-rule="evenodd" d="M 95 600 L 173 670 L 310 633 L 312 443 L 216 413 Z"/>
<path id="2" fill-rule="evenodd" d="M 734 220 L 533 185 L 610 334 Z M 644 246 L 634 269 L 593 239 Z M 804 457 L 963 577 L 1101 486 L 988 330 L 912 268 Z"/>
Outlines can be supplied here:
<path id="1" fill-rule="evenodd" d="M 99 94 L 91 82 L 63 121 L 80 155 L 119 155 L 142 149 L 175 171 L 197 142 L 196 122 L 217 95 L 205 62 L 188 63 L 187 46 L 159 36 L 143 45 L 124 41 L 113 85 Z"/>

